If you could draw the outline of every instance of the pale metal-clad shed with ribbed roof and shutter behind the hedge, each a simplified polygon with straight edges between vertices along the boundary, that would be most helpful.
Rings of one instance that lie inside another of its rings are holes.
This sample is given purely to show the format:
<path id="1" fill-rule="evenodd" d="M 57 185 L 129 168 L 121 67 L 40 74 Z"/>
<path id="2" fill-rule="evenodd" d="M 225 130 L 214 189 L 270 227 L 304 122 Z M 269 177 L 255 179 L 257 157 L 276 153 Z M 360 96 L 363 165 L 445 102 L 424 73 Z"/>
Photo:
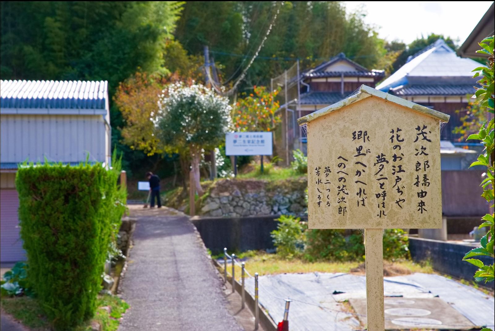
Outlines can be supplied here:
<path id="1" fill-rule="evenodd" d="M 77 164 L 87 155 L 110 163 L 106 81 L 4 81 L 0 83 L 0 262 L 25 259 L 15 190 L 25 160 Z"/>

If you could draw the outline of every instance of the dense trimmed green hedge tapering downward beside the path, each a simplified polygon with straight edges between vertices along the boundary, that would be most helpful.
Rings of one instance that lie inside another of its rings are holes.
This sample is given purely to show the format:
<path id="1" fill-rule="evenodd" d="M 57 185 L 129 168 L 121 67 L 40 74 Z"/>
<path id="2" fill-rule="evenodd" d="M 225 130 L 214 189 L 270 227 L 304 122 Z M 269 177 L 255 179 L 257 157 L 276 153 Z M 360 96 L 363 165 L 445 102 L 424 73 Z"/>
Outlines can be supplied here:
<path id="1" fill-rule="evenodd" d="M 113 170 L 45 163 L 17 171 L 28 279 L 57 330 L 81 324 L 97 308 L 104 263 L 125 212 L 117 163 Z"/>

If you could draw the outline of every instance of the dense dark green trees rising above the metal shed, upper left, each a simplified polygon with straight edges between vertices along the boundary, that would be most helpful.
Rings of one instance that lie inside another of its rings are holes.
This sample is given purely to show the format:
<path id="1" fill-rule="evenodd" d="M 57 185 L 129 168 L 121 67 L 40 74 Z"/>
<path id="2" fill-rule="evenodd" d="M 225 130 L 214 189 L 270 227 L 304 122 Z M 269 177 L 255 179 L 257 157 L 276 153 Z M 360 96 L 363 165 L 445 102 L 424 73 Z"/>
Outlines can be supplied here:
<path id="1" fill-rule="evenodd" d="M 138 69 L 167 73 L 171 40 L 183 2 L 2 1 L 1 79 L 107 80 L 112 98 L 120 82 Z M 171 51 L 171 49 L 170 49 Z M 175 70 L 174 70 L 175 71 Z M 110 103 L 112 142 L 126 168 L 142 153 L 120 143 L 126 126 Z"/>

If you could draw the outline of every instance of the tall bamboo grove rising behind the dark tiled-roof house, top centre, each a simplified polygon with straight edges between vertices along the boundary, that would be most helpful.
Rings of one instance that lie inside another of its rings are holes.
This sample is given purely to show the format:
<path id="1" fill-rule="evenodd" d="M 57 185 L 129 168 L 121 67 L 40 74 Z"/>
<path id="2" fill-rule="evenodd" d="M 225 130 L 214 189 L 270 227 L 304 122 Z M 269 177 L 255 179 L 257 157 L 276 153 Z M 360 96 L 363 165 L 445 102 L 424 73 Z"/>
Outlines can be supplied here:
<path id="1" fill-rule="evenodd" d="M 235 77 L 257 50 L 278 9 L 259 56 L 290 59 L 254 61 L 245 86 L 269 84 L 270 77 L 292 66 L 296 58 L 303 69 L 345 52 L 371 68 L 385 54 L 383 41 L 363 22 L 361 13 L 346 13 L 341 1 L 191 1 L 185 4 L 175 36 L 193 54 L 202 54 L 202 46 L 208 45 L 215 61 L 224 64 L 223 71 Z"/>

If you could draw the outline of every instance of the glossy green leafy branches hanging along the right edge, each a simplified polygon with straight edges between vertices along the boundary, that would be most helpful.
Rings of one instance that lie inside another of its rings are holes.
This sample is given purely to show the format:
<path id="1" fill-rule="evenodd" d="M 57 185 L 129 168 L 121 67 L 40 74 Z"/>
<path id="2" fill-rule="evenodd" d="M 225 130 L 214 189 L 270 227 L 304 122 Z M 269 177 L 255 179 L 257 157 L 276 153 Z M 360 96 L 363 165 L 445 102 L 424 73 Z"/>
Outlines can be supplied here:
<path id="1" fill-rule="evenodd" d="M 478 81 L 480 84 L 480 88 L 478 88 L 475 92 L 475 96 L 477 97 L 477 102 L 479 105 L 486 110 L 488 113 L 494 114 L 494 43 L 495 36 L 490 38 L 486 38 L 479 45 L 483 48 L 478 50 L 479 53 L 484 53 L 489 55 L 487 65 L 475 68 L 475 75 L 473 77 L 480 77 L 481 79 Z M 488 114 L 487 114 L 488 115 Z M 488 117 L 488 116 L 487 116 Z M 479 128 L 478 133 L 470 135 L 468 140 L 479 140 L 485 146 L 483 154 L 478 157 L 478 161 L 475 161 L 471 164 L 471 167 L 481 165 L 487 167 L 487 178 L 485 178 L 481 182 L 481 187 L 483 188 L 483 196 L 493 207 L 494 201 L 494 188 L 495 188 L 495 179 L 494 179 L 494 161 L 495 161 L 495 148 L 494 148 L 494 118 L 490 121 L 485 121 L 481 128 Z M 488 122 L 488 124 L 487 124 Z M 474 264 L 479 269 L 474 274 L 474 278 L 477 282 L 485 281 L 493 282 L 494 281 L 494 267 L 495 264 L 485 265 L 483 261 L 477 259 L 478 256 L 491 256 L 494 257 L 494 216 L 495 214 L 486 214 L 483 216 L 482 221 L 484 221 L 480 228 L 489 227 L 490 230 L 488 233 L 483 236 L 480 240 L 481 247 L 474 248 L 470 250 L 463 258 L 464 261 L 467 261 L 471 264 Z"/>

